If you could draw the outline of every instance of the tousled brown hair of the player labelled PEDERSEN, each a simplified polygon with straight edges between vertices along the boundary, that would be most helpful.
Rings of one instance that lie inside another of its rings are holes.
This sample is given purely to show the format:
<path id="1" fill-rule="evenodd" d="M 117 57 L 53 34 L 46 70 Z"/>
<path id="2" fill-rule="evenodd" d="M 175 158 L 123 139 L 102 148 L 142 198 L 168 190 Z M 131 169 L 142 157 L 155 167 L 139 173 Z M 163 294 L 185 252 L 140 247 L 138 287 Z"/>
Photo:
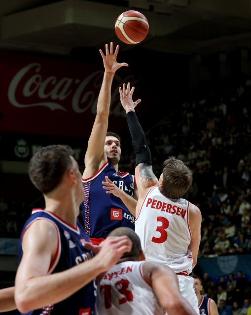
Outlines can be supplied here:
<path id="1" fill-rule="evenodd" d="M 170 157 L 163 163 L 161 192 L 170 199 L 181 198 L 191 187 L 193 174 L 180 159 Z"/>

